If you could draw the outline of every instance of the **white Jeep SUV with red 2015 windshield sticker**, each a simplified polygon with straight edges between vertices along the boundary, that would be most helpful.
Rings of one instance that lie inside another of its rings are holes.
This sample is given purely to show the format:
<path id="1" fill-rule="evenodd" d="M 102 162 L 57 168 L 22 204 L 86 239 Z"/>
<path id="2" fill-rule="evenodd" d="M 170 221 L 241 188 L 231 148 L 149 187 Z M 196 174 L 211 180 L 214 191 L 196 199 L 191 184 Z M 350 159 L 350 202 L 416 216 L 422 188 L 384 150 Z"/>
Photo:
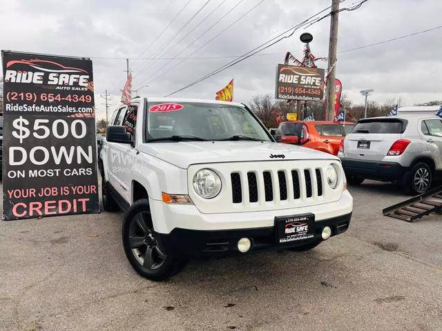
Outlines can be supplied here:
<path id="1" fill-rule="evenodd" d="M 347 230 L 353 199 L 338 158 L 275 143 L 246 106 L 133 99 L 100 153 L 105 210 L 126 210 L 123 243 L 143 277 L 193 257 L 308 250 Z"/>

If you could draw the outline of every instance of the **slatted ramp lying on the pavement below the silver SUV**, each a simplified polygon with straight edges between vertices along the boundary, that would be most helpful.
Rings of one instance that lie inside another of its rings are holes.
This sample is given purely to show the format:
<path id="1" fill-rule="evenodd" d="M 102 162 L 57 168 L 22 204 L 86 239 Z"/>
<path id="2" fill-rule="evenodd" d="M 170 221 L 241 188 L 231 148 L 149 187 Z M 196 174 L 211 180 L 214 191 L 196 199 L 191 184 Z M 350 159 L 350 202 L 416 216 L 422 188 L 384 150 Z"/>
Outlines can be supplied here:
<path id="1" fill-rule="evenodd" d="M 396 203 L 396 205 L 385 208 L 382 212 L 384 216 L 407 222 L 420 219 L 432 212 L 442 212 L 442 186 L 412 199 Z"/>

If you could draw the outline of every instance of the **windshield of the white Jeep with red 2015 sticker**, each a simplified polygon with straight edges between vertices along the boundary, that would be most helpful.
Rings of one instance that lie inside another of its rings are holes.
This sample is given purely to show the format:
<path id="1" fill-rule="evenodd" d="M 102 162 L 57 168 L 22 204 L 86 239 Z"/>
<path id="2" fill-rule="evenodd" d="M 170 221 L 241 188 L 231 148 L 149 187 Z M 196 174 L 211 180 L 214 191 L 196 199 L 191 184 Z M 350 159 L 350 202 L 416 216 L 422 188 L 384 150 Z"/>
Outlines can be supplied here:
<path id="1" fill-rule="evenodd" d="M 146 128 L 148 141 L 173 136 L 209 141 L 232 137 L 270 141 L 247 109 L 220 103 L 148 103 Z"/>

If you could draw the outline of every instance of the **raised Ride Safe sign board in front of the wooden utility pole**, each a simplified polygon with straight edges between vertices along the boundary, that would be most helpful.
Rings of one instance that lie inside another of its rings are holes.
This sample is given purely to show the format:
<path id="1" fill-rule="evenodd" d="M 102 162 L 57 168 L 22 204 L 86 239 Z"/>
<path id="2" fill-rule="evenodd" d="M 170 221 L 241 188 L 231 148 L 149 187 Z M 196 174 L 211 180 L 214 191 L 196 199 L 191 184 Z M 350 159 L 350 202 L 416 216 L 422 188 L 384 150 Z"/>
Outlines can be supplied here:
<path id="1" fill-rule="evenodd" d="M 324 97 L 324 69 L 278 64 L 276 99 L 320 101 Z"/>

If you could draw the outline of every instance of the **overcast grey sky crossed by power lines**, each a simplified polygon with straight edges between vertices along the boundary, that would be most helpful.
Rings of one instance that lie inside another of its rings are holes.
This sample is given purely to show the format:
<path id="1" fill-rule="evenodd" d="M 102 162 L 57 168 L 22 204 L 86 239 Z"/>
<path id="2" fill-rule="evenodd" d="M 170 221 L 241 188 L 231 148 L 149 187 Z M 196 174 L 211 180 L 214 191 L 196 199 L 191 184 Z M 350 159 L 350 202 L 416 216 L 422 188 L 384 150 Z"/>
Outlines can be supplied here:
<path id="1" fill-rule="evenodd" d="M 207 2 L 190 0 L 182 10 L 188 1 L 2 1 L 0 47 L 3 50 L 93 58 L 95 103 L 99 117 L 103 117 L 104 100 L 99 99 L 99 94 L 104 94 L 107 89 L 113 95 L 113 105 L 117 105 L 119 89 L 124 86 L 126 78 L 123 71 L 126 61 L 97 57 L 133 58 L 130 60 L 135 76 L 133 88 L 148 84 L 140 90 L 140 94 L 163 97 L 232 60 L 226 57 L 252 50 L 332 2 L 210 0 L 186 25 Z M 359 1 L 345 0 L 340 6 L 345 8 Z M 244 18 L 210 41 L 258 3 L 260 5 Z M 182 12 L 171 23 L 180 10 Z M 441 26 L 441 12 L 440 0 L 369 0 L 358 10 L 340 13 L 338 52 Z M 211 26 L 213 28 L 195 41 Z M 236 82 L 235 101 L 247 102 L 254 94 L 273 94 L 276 64 L 283 62 L 285 52 L 291 51 L 296 57 L 302 57 L 302 43 L 299 41 L 302 32 L 314 35 L 311 50 L 317 57 L 327 56 L 329 18 L 296 31 L 291 38 L 262 51 L 259 56 L 242 61 L 175 96 L 213 99 L 215 92 L 231 77 Z M 336 76 L 343 83 L 343 91 L 354 103 L 363 103 L 359 91 L 367 88 L 375 90 L 372 100 L 384 102 L 401 98 L 403 106 L 442 99 L 441 35 L 442 29 L 439 29 L 381 46 L 338 54 Z M 166 63 L 170 60 L 144 59 L 186 58 L 192 52 L 195 54 L 191 58 L 197 59 L 173 60 L 169 64 Z M 201 57 L 217 59 L 198 59 Z M 180 61 L 182 63 L 177 65 Z M 320 68 L 327 67 L 325 61 L 317 64 Z"/>

